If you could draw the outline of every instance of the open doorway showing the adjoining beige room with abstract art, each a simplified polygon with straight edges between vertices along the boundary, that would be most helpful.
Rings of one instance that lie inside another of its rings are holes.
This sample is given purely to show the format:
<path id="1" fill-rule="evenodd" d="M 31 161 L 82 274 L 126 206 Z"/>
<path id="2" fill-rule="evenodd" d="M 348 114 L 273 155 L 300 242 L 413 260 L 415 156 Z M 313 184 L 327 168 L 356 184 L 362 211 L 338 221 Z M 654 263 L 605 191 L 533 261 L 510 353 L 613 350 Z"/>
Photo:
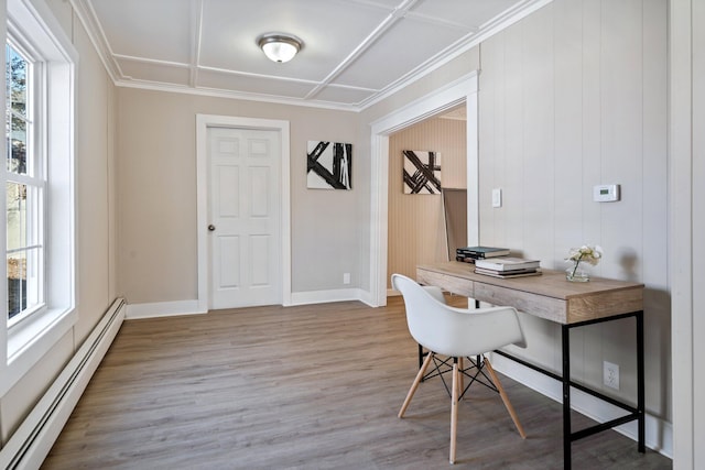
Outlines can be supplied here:
<path id="1" fill-rule="evenodd" d="M 455 260 L 467 247 L 465 110 L 463 102 L 389 136 L 388 282 L 393 273 L 414 278 L 417 265 Z"/>

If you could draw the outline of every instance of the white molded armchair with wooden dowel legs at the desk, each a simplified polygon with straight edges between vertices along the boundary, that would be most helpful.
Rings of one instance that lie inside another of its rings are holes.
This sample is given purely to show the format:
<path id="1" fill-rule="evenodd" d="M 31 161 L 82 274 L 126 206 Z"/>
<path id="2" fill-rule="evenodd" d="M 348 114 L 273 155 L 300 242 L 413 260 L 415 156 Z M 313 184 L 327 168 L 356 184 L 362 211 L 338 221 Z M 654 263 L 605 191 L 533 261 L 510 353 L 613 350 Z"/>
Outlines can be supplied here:
<path id="1" fill-rule="evenodd" d="M 403 417 L 411 398 L 423 380 L 429 364 L 436 354 L 453 358 L 453 384 L 451 393 L 451 463 L 455 462 L 455 440 L 457 435 L 457 405 L 463 393 L 458 360 L 479 357 L 508 345 L 525 347 L 524 336 L 519 325 L 517 310 L 512 307 L 489 307 L 478 309 L 455 308 L 445 304 L 443 293 L 437 287 L 422 287 L 415 281 L 401 274 L 392 275 L 392 287 L 401 292 L 406 307 L 406 323 L 411 336 L 419 345 L 429 350 L 406 400 L 399 411 Z M 509 397 L 501 386 L 492 365 L 482 357 L 476 364 L 478 370 L 486 368 L 499 392 L 509 415 L 521 438 L 524 430 Z M 460 365 L 462 369 L 462 365 Z"/>

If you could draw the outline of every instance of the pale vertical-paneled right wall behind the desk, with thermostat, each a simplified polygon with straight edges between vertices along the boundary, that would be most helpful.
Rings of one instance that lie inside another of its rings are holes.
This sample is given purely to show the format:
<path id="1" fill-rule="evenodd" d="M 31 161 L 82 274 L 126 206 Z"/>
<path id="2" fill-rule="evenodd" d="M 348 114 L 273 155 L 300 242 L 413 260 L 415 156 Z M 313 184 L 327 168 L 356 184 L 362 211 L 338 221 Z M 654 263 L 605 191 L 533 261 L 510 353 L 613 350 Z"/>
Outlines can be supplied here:
<path id="1" fill-rule="evenodd" d="M 571 247 L 605 250 L 594 275 L 646 293 L 647 411 L 671 420 L 668 295 L 666 0 L 555 0 L 481 44 L 480 242 L 565 269 Z M 621 200 L 593 201 L 593 186 Z M 491 189 L 503 206 L 491 208 Z M 560 370 L 560 329 L 528 318 L 533 361 Z M 633 323 L 572 334 L 573 376 L 603 386 L 620 365 L 636 396 Z"/>

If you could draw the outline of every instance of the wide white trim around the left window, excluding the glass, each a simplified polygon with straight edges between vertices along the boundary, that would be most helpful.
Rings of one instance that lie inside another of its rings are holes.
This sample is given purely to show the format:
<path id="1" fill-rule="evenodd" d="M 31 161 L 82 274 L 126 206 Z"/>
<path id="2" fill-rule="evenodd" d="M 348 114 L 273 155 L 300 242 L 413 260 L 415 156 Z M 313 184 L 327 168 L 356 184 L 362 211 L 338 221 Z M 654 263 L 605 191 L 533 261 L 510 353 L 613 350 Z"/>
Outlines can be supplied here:
<path id="1" fill-rule="evenodd" d="M 31 44 L 45 61 L 47 91 L 47 197 L 45 205 L 47 308 L 8 329 L 0 328 L 0 396 L 3 396 L 77 321 L 76 311 L 76 200 L 74 168 L 75 68 L 78 54 L 51 10 L 41 0 L 7 0 L 8 28 Z M 0 98 L 4 100 L 4 95 Z M 2 101 L 4 107 L 4 102 Z M 0 204 L 6 206 L 4 192 Z M 2 216 L 4 218 L 4 216 Z M 0 243 L 7 245 L 4 230 Z M 7 267 L 6 267 L 7 269 Z M 7 277 L 7 273 L 6 273 Z M 6 289 L 1 300 L 7 305 Z"/>

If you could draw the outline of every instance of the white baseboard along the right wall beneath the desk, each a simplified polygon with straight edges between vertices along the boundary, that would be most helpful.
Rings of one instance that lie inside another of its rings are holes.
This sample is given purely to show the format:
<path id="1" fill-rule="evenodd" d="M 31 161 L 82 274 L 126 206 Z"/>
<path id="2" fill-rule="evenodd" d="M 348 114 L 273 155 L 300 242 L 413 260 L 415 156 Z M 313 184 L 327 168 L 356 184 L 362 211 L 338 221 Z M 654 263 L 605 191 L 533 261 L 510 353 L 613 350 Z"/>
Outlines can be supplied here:
<path id="1" fill-rule="evenodd" d="M 498 372 L 535 390 L 542 395 L 563 403 L 563 387 L 557 380 L 499 354 L 492 354 L 491 360 Z M 571 391 L 571 407 L 598 423 L 605 423 L 625 415 L 621 408 L 575 389 Z M 623 424 L 616 427 L 615 430 L 637 441 L 637 422 Z M 647 413 L 646 445 L 648 448 L 673 459 L 673 425 Z"/>

